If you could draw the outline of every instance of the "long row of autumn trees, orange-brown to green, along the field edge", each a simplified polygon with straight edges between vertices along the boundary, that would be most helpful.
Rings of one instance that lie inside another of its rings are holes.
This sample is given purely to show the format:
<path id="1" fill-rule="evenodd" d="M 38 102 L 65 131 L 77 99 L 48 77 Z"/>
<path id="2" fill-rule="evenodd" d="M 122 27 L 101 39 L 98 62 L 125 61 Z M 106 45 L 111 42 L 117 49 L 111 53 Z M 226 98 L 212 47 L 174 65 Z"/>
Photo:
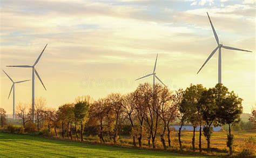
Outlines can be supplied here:
<path id="1" fill-rule="evenodd" d="M 190 123 L 194 127 L 193 150 L 196 150 L 196 127 L 200 128 L 200 152 L 202 133 L 207 140 L 207 151 L 210 152 L 212 126 L 228 125 L 227 146 L 232 155 L 231 126 L 240 121 L 241 102 L 241 98 L 233 91 L 229 92 L 222 84 L 208 89 L 203 85 L 190 85 L 186 90 L 179 89 L 173 92 L 159 84 L 153 87 L 145 83 L 125 95 L 112 93 L 96 101 L 92 101 L 88 96 L 79 97 L 74 104 L 64 104 L 57 111 L 45 108 L 45 100 L 39 98 L 35 104 L 35 116 L 37 130 L 44 125 L 48 127 L 49 132 L 50 128 L 54 128 L 58 136 L 60 129 L 62 137 L 66 135 L 70 139 L 73 139 L 75 132 L 75 139 L 80 138 L 81 141 L 85 125 L 98 127 L 97 135 L 100 142 L 106 142 L 107 136 L 114 144 L 118 142 L 120 126 L 130 125 L 134 147 L 142 147 L 142 140 L 147 139 L 148 146 L 156 148 L 156 138 L 159 134 L 165 150 L 171 147 L 170 125 L 178 120 L 180 150 L 183 149 L 181 129 L 185 123 Z M 23 125 L 31 118 L 30 111 L 26 112 L 25 108 L 18 106 L 17 110 Z"/>

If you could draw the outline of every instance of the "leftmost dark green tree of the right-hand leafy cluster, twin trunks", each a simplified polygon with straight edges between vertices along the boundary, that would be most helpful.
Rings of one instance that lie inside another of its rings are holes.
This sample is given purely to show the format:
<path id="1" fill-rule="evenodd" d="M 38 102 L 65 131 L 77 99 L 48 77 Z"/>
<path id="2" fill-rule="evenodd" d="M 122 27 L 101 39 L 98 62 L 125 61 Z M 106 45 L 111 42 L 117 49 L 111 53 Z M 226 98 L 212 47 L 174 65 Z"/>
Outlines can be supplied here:
<path id="1" fill-rule="evenodd" d="M 195 132 L 196 127 L 200 125 L 200 135 L 199 135 L 199 150 L 201 149 L 201 124 L 202 124 L 202 115 L 201 115 L 201 108 L 198 104 L 201 94 L 203 91 L 206 90 L 206 88 L 203 87 L 203 85 L 190 85 L 190 87 L 187 87 L 184 95 L 183 95 L 183 104 L 186 104 L 186 110 L 187 110 L 187 120 L 191 122 L 193 126 L 193 138 L 192 138 L 192 148 L 193 151 L 195 151 Z"/>

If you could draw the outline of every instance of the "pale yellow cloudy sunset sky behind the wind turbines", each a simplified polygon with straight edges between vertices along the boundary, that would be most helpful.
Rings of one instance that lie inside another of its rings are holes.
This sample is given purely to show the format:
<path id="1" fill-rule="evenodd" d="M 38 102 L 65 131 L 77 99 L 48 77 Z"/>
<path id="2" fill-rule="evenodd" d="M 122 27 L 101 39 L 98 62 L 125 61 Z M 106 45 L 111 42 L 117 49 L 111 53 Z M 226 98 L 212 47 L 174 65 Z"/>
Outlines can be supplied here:
<path id="1" fill-rule="evenodd" d="M 35 96 L 48 107 L 126 94 L 152 77 L 170 88 L 218 83 L 218 53 L 197 74 L 215 49 L 209 13 L 220 43 L 253 51 L 222 49 L 222 83 L 244 99 L 244 112 L 255 104 L 255 3 L 253 1 L 0 1 L 0 68 L 14 81 L 31 79 L 36 65 Z M 0 107 L 12 113 L 11 81 L 0 73 Z M 30 104 L 31 81 L 15 86 L 16 106 Z"/>

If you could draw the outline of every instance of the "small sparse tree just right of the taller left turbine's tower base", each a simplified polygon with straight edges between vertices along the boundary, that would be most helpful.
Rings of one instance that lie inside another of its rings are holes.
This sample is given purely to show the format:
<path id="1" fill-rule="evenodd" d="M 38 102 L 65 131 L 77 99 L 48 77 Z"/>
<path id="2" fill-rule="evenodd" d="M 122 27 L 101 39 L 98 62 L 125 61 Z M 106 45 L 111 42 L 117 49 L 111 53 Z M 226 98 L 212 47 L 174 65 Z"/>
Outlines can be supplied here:
<path id="1" fill-rule="evenodd" d="M 36 115 L 36 121 L 37 121 L 37 131 L 39 131 L 40 123 L 43 118 L 43 112 L 46 105 L 46 99 L 45 98 L 36 98 L 35 100 L 35 115 Z"/>

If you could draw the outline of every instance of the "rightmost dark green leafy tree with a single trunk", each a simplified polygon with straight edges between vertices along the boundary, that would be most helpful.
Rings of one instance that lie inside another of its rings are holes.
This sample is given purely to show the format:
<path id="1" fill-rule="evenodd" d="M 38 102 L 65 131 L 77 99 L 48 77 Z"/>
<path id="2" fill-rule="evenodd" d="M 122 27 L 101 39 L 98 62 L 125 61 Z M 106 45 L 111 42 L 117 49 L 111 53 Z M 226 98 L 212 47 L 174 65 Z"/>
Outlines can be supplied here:
<path id="1" fill-rule="evenodd" d="M 231 134 L 231 126 L 240 121 L 242 114 L 242 99 L 238 97 L 233 91 L 227 93 L 226 97 L 221 100 L 218 108 L 218 118 L 222 125 L 228 125 L 227 147 L 230 149 L 232 155 L 233 134 Z"/>

